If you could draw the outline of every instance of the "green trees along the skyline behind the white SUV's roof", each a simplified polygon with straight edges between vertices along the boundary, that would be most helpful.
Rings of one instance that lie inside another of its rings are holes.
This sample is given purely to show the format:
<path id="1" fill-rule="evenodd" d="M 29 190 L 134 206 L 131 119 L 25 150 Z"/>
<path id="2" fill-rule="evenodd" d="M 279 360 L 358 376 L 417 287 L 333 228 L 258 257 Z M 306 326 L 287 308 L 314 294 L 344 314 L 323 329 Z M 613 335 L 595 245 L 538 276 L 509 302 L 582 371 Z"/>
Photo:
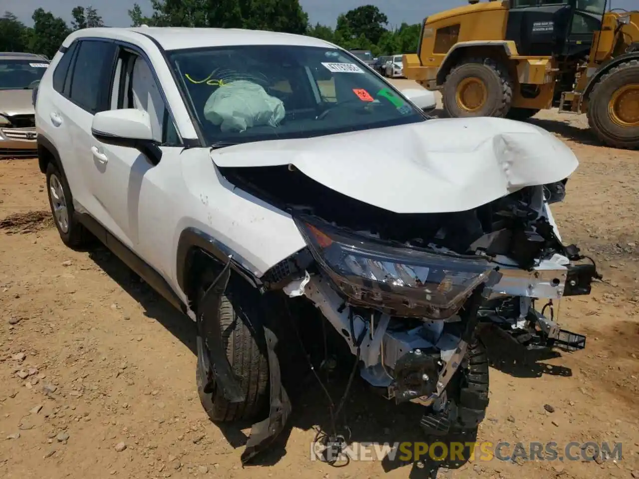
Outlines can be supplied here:
<path id="1" fill-rule="evenodd" d="M 337 17 L 335 28 L 309 24 L 298 0 L 151 0 L 150 16 L 135 3 L 128 15 L 131 26 L 220 27 L 282 31 L 314 36 L 345 49 L 371 50 L 374 56 L 417 50 L 420 24 L 389 27 L 388 17 L 373 5 L 363 5 Z M 92 6 L 76 6 L 70 25 L 38 8 L 26 26 L 10 11 L 0 18 L 0 51 L 33 52 L 53 57 L 72 31 L 104 26 Z"/>

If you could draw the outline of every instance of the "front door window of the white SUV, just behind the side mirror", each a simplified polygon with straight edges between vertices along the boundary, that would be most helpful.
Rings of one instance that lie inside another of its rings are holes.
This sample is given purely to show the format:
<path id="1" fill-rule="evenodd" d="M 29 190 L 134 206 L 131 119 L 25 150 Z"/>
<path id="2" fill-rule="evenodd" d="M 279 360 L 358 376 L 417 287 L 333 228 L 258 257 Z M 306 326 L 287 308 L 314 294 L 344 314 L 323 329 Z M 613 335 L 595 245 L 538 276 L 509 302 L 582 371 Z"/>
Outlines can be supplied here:
<path id="1" fill-rule="evenodd" d="M 111 109 L 123 108 L 146 111 L 151 119 L 153 139 L 163 146 L 181 146 L 151 66 L 146 59 L 129 50 L 121 50 L 119 54 L 111 96 Z"/>

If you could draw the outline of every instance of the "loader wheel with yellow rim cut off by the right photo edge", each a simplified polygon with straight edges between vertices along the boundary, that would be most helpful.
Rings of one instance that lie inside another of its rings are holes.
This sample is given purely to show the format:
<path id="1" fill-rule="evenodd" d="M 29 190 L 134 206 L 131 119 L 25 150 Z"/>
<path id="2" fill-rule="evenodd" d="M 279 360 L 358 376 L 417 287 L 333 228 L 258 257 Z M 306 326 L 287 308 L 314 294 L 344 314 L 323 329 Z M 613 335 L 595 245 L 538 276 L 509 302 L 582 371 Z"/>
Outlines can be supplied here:
<path id="1" fill-rule="evenodd" d="M 634 84 L 634 86 L 633 86 Z M 613 148 L 639 148 L 639 59 L 615 66 L 590 93 L 588 122 L 597 138 Z M 619 110 L 619 103 L 634 105 Z"/>

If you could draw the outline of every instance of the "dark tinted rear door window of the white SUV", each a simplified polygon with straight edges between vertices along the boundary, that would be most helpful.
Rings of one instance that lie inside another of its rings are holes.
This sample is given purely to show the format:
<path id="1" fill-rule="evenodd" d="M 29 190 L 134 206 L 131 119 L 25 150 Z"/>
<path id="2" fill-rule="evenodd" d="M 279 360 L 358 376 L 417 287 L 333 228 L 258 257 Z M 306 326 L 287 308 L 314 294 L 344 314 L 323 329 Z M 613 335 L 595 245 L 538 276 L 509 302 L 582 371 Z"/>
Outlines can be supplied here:
<path id="1" fill-rule="evenodd" d="M 75 59 L 70 99 L 91 114 L 108 109 L 109 83 L 116 45 L 100 40 L 82 40 Z"/>

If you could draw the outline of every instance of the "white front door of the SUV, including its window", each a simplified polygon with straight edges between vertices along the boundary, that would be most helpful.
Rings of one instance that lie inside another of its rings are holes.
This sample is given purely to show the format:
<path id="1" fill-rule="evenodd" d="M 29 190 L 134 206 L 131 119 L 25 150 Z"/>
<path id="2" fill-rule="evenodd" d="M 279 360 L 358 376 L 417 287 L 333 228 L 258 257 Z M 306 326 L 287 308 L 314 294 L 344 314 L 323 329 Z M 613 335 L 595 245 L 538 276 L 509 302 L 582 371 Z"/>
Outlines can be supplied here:
<path id="1" fill-rule="evenodd" d="M 173 265 L 167 262 L 166 252 L 172 246 L 175 226 L 170 224 L 167 211 L 171 211 L 173 199 L 171 185 L 181 178 L 181 141 L 145 57 L 119 47 L 113 78 L 110 109 L 148 112 L 162 158 L 153 165 L 138 149 L 105 144 L 93 137 L 92 147 L 104 156 L 104 166 L 93 170 L 92 188 L 109 213 L 111 232 L 167 278 Z"/>

